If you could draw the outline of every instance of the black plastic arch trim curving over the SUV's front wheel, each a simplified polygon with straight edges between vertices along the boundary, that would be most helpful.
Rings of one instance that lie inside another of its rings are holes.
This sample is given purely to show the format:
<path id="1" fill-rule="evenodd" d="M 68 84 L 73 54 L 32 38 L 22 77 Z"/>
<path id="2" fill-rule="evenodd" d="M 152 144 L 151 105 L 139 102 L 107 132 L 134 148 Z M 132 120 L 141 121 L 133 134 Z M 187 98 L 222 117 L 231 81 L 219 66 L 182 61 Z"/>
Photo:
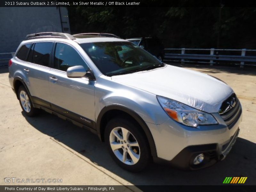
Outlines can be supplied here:
<path id="1" fill-rule="evenodd" d="M 157 157 L 155 141 L 154 141 L 153 136 L 148 128 L 148 125 L 135 111 L 133 111 L 125 106 L 122 106 L 122 105 L 117 105 L 117 104 L 108 105 L 108 106 L 102 108 L 102 110 L 100 111 L 100 114 L 99 114 L 99 116 L 97 118 L 97 122 L 96 122 L 96 131 L 97 131 L 97 134 L 98 134 L 100 140 L 102 140 L 101 130 L 100 130 L 101 119 L 104 116 L 104 114 L 110 110 L 120 110 L 120 111 L 123 111 L 123 112 L 129 114 L 130 116 L 132 116 L 137 121 L 137 123 L 141 126 L 142 130 L 146 134 L 146 137 L 148 139 L 148 144 L 150 147 L 150 151 L 151 151 L 151 155 L 153 157 Z"/>

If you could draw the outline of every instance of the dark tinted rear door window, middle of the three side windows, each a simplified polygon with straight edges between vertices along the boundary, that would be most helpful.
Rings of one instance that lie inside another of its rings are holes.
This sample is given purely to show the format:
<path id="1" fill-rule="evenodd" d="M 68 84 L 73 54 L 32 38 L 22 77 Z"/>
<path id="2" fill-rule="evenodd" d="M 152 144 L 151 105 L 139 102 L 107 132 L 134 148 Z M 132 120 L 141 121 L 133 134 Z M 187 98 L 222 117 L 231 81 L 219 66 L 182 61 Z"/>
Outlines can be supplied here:
<path id="1" fill-rule="evenodd" d="M 29 52 L 28 61 L 48 67 L 50 55 L 52 53 L 52 46 L 52 42 L 36 43 Z"/>

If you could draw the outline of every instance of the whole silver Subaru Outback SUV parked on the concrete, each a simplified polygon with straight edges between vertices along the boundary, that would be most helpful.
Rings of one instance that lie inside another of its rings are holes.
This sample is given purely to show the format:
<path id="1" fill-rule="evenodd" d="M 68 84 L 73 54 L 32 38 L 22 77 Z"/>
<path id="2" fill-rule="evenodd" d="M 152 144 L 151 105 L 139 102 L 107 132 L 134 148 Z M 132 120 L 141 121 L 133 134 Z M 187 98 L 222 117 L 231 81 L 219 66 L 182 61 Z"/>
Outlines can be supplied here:
<path id="1" fill-rule="evenodd" d="M 43 109 L 89 129 L 129 171 L 151 160 L 207 167 L 239 133 L 242 108 L 226 83 L 166 65 L 124 39 L 31 34 L 9 72 L 26 115 Z"/>

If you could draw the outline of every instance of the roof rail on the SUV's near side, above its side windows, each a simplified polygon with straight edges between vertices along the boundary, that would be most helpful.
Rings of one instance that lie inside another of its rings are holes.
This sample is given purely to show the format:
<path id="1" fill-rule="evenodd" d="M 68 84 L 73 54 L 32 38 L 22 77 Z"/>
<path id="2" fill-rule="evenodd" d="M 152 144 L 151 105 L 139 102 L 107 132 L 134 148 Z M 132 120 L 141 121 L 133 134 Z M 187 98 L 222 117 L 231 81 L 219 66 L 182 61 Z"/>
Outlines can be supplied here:
<path id="1" fill-rule="evenodd" d="M 57 37 L 64 39 L 76 39 L 68 33 L 58 33 L 58 32 L 43 32 L 43 33 L 33 33 L 26 36 L 26 39 L 35 39 L 35 38 L 45 38 L 45 37 Z"/>

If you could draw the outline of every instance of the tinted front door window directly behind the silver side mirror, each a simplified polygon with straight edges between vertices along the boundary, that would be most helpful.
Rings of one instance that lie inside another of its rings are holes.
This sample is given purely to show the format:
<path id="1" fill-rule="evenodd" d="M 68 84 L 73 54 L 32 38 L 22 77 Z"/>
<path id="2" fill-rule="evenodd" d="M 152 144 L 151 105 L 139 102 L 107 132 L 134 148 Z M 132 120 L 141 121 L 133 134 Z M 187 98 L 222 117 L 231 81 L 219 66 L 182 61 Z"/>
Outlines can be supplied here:
<path id="1" fill-rule="evenodd" d="M 54 68 L 67 71 L 69 67 L 82 65 L 88 71 L 88 67 L 76 50 L 63 43 L 57 43 L 54 54 Z"/>

